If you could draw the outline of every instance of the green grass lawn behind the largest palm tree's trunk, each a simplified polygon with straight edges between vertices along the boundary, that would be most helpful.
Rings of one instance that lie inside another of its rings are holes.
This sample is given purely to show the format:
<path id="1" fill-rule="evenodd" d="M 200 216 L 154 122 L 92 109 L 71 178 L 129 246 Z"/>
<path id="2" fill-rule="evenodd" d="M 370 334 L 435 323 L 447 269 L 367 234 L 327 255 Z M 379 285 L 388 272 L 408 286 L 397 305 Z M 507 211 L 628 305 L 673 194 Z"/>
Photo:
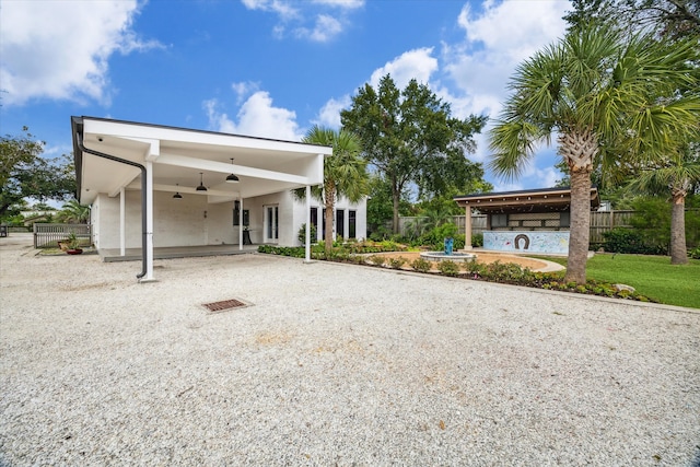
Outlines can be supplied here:
<path id="1" fill-rule="evenodd" d="M 565 258 L 547 258 L 565 266 Z M 674 266 L 668 256 L 596 254 L 588 259 L 586 277 L 626 283 L 650 299 L 668 305 L 700 308 L 700 260 Z"/>

